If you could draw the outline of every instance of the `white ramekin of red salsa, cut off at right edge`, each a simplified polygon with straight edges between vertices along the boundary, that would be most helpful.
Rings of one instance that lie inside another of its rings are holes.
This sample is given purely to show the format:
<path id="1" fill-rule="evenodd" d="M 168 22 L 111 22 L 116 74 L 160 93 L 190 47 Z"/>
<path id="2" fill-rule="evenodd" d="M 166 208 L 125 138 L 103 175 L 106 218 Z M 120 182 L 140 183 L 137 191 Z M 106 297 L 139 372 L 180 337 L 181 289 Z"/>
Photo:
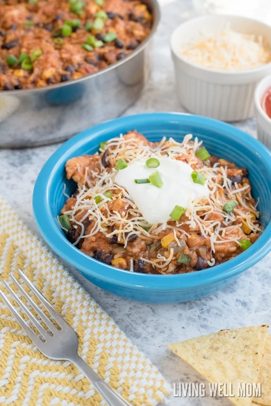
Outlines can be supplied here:
<path id="1" fill-rule="evenodd" d="M 254 94 L 255 116 L 257 120 L 257 138 L 271 149 L 271 119 L 264 113 L 261 101 L 265 90 L 271 86 L 271 75 L 263 78 L 256 87 Z"/>

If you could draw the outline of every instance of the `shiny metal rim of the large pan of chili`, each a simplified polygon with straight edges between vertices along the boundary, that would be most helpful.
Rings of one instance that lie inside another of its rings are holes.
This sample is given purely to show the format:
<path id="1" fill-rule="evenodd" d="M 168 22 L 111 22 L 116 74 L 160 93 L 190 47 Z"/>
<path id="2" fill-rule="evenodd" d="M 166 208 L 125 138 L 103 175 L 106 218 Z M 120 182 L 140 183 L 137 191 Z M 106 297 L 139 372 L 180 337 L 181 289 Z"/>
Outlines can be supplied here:
<path id="1" fill-rule="evenodd" d="M 145 2 L 146 2 L 146 0 L 142 0 L 142 3 L 146 4 Z M 146 46 L 150 43 L 155 32 L 157 31 L 157 28 L 158 28 L 160 20 L 161 20 L 161 7 L 158 3 L 158 0 L 149 0 L 149 3 L 153 7 L 153 14 L 154 14 L 154 20 L 153 20 L 153 24 L 151 27 L 151 31 L 150 31 L 148 37 L 146 37 L 145 40 L 135 50 L 133 50 L 129 55 L 127 55 L 124 59 L 121 59 L 121 60 L 113 63 L 112 65 L 105 67 L 104 69 L 100 69 L 98 72 L 91 73 L 91 74 L 83 76 L 82 78 L 79 78 L 79 79 L 74 79 L 69 82 L 56 83 L 55 85 L 51 85 L 51 86 L 48 85 L 48 86 L 44 86 L 44 87 L 35 87 L 33 89 L 5 90 L 5 91 L 3 91 L 4 95 L 10 95 L 10 94 L 27 95 L 27 94 L 32 94 L 32 93 L 40 93 L 42 91 L 51 91 L 51 90 L 59 89 L 61 87 L 65 87 L 65 86 L 71 86 L 73 84 L 83 82 L 84 80 L 94 78 L 99 75 L 103 75 L 103 74 L 113 70 L 115 67 L 117 68 L 118 66 L 120 66 L 123 63 L 127 62 L 128 60 L 132 59 L 134 56 L 138 55 L 144 48 L 146 48 Z M 0 92 L 0 93 L 2 93 L 2 92 Z"/>

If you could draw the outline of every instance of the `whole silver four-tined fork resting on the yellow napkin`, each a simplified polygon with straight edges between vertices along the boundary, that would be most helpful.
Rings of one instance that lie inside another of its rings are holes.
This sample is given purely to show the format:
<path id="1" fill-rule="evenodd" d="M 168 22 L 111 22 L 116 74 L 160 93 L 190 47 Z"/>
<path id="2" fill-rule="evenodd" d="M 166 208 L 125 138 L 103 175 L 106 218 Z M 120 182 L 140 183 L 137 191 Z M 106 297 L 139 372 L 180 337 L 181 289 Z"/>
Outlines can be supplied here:
<path id="1" fill-rule="evenodd" d="M 29 279 L 18 269 L 20 277 L 29 286 L 32 292 L 38 297 L 45 309 L 49 312 L 51 317 L 57 322 L 60 330 L 55 327 L 55 325 L 50 321 L 50 319 L 45 315 L 45 313 L 37 306 L 35 301 L 25 292 L 19 282 L 11 275 L 12 281 L 15 283 L 17 288 L 21 291 L 22 295 L 27 299 L 28 303 L 31 304 L 33 310 L 40 316 L 43 322 L 46 324 L 48 329 L 51 331 L 52 335 L 46 331 L 39 320 L 31 314 L 27 309 L 25 304 L 17 296 L 17 294 L 11 289 L 6 281 L 3 281 L 6 288 L 9 290 L 11 295 L 19 304 L 21 310 L 26 314 L 28 319 L 40 332 L 41 336 L 37 335 L 17 312 L 17 310 L 12 306 L 11 302 L 7 296 L 0 289 L 0 296 L 6 303 L 7 307 L 24 329 L 29 339 L 36 345 L 36 347 L 41 351 L 43 355 L 51 359 L 57 360 L 67 360 L 73 362 L 78 369 L 85 375 L 85 377 L 92 383 L 96 391 L 106 400 L 108 406 L 129 406 L 130 403 L 126 402 L 117 392 L 115 392 L 106 382 L 104 382 L 90 366 L 78 355 L 78 338 L 76 332 L 72 327 L 65 322 L 65 320 L 60 316 L 59 313 L 53 308 L 53 306 L 48 302 L 48 300 L 41 294 L 41 292 L 29 281 Z M 42 341 L 43 339 L 43 341 Z"/>

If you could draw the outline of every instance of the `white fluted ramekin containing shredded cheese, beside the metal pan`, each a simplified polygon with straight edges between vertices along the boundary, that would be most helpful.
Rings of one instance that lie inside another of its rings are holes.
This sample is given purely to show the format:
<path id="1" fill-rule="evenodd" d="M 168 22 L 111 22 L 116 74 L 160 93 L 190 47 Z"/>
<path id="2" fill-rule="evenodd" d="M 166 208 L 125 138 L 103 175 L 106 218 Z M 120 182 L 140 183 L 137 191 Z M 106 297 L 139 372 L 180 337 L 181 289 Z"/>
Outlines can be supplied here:
<path id="1" fill-rule="evenodd" d="M 229 15 L 209 15 L 179 25 L 171 37 L 177 94 L 181 104 L 191 113 L 223 121 L 245 120 L 254 114 L 253 94 L 257 83 L 271 73 L 271 63 L 256 69 L 225 72 L 207 69 L 184 59 L 181 46 L 227 24 L 244 33 L 263 36 L 271 48 L 271 27 L 260 21 Z"/>

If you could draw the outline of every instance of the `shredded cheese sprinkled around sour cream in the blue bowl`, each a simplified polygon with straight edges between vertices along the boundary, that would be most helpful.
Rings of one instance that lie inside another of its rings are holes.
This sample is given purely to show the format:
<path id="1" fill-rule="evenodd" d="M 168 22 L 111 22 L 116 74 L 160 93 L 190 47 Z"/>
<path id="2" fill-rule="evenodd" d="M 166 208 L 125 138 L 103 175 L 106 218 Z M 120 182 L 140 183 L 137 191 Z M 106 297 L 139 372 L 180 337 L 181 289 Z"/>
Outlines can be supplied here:
<path id="1" fill-rule="evenodd" d="M 201 235 L 210 239 L 211 251 L 215 253 L 216 249 L 218 249 L 216 247 L 219 247 L 220 244 L 229 242 L 239 244 L 238 240 L 242 238 L 239 231 L 244 235 L 241 230 L 244 222 L 252 232 L 258 233 L 261 227 L 259 224 L 254 223 L 255 218 L 259 217 L 257 204 L 251 204 L 252 196 L 250 191 L 245 197 L 242 196 L 242 192 L 248 189 L 250 185 L 247 184 L 240 188 L 237 183 L 232 184 L 227 177 L 227 167 L 215 164 L 214 167 L 201 165 L 202 167 L 197 168 L 198 172 L 205 175 L 210 189 L 210 196 L 205 198 L 204 201 L 200 198 L 190 201 L 184 221 L 180 222 L 170 221 L 163 224 L 148 224 L 129 193 L 115 183 L 117 174 L 115 165 L 120 158 L 130 163 L 142 158 L 148 159 L 154 154 L 158 157 L 167 154 L 173 159 L 184 157 L 189 165 L 198 164 L 199 158 L 195 152 L 202 142 L 199 142 L 197 137 L 195 137 L 194 142 L 191 139 L 191 134 L 187 134 L 182 143 L 178 143 L 172 138 L 166 141 L 164 137 L 160 143 L 149 145 L 142 145 L 136 137 L 125 140 L 122 135 L 109 140 L 105 148 L 109 151 L 108 161 L 112 169 L 108 172 L 100 163 L 99 173 L 91 171 L 90 177 L 86 171 L 85 185 L 87 186 L 78 185 L 79 193 L 76 196 L 75 207 L 73 210 L 64 212 L 64 214 L 69 215 L 73 223 L 77 224 L 75 227 L 81 227 L 80 236 L 74 245 L 77 245 L 81 239 L 93 236 L 100 231 L 107 238 L 117 235 L 118 242 L 123 244 L 125 249 L 132 234 L 136 234 L 143 241 L 152 240 L 155 243 L 160 242 L 159 232 L 166 229 L 168 232 L 174 232 L 175 241 L 178 246 L 181 246 L 183 238 L 190 238 L 190 229 L 193 232 L 196 227 L 199 227 Z M 104 152 L 104 150 L 100 149 L 100 152 Z M 221 179 L 223 184 L 221 184 Z M 105 195 L 108 191 L 112 192 L 112 198 Z M 226 198 L 225 191 L 227 192 Z M 98 203 L 95 201 L 97 196 L 101 198 Z M 122 211 L 110 208 L 110 202 L 115 201 L 117 198 L 121 198 L 124 202 Z M 223 211 L 223 206 L 229 199 L 235 201 L 237 206 L 233 212 L 226 213 Z M 212 219 L 210 219 L 210 214 L 212 214 Z M 80 221 L 78 216 L 81 216 Z M 87 218 L 94 220 L 94 226 L 90 233 L 84 235 L 83 221 Z M 238 220 L 240 222 L 236 224 Z M 161 256 L 158 253 L 157 258 L 154 260 L 144 257 L 141 259 L 151 263 L 156 268 L 160 268 L 162 273 L 162 270 L 166 269 L 170 264 L 173 255 L 174 250 L 168 249 L 166 255 Z M 212 257 L 208 264 L 213 266 L 215 258 Z M 131 259 L 130 269 L 132 270 L 132 268 Z M 165 272 L 167 271 L 165 270 Z"/>

